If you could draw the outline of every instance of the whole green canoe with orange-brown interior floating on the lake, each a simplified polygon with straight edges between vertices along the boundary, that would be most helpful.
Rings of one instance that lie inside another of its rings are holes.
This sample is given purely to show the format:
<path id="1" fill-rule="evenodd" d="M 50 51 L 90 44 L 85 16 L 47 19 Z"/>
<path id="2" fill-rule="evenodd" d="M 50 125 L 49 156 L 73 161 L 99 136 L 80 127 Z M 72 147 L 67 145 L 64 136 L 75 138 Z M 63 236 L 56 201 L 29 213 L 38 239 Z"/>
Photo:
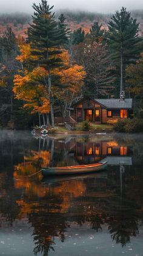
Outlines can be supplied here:
<path id="1" fill-rule="evenodd" d="M 63 166 L 63 167 L 45 167 L 42 168 L 43 176 L 50 175 L 61 175 L 61 174 L 82 174 L 87 172 L 101 171 L 107 168 L 107 162 L 101 163 L 91 163 L 90 165 L 73 165 L 73 166 Z"/>

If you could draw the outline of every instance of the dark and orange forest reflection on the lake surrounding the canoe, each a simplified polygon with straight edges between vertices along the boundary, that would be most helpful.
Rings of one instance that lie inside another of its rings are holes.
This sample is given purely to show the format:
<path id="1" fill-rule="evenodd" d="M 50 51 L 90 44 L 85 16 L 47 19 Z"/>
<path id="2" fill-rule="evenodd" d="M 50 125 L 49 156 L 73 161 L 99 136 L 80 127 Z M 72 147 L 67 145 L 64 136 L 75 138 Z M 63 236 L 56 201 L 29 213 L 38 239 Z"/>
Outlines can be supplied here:
<path id="1" fill-rule="evenodd" d="M 18 148 L 21 155 L 13 158 L 13 179 L 5 172 L 0 177 L 1 222 L 6 220 L 12 225 L 16 219 L 28 219 L 33 227 L 34 253 L 44 256 L 54 251 L 57 239 L 65 241 L 65 232 L 83 225 L 95 232 L 106 225 L 115 243 L 122 246 L 130 243 L 131 236 L 138 235 L 139 223 L 143 221 L 142 141 L 138 143 L 129 137 L 118 140 L 110 137 L 105 141 L 95 137 L 41 141 L 42 138 L 30 146 L 25 143 L 21 150 Z M 112 151 L 108 151 L 108 147 Z M 2 152 L 5 152 L 3 148 Z M 82 157 L 95 161 L 95 157 L 99 159 L 98 154 L 102 158 L 110 152 L 115 158 L 132 154 L 134 166 L 124 166 L 122 177 L 119 165 L 110 166 L 105 176 L 101 172 L 55 183 L 53 178 L 52 184 L 42 183 L 41 174 L 29 177 L 38 172 L 41 165 L 72 165 L 80 163 Z"/>

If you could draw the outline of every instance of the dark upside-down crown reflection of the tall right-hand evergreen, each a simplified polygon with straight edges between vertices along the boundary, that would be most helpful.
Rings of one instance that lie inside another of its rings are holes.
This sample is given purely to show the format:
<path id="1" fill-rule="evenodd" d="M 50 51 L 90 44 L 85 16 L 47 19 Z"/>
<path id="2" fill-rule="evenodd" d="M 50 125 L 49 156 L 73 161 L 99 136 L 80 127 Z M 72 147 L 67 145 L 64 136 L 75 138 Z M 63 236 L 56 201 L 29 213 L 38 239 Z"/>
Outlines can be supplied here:
<path id="1" fill-rule="evenodd" d="M 127 202 L 121 197 L 108 202 L 110 212 L 108 213 L 107 224 L 111 238 L 116 243 L 125 244 L 130 243 L 130 237 L 136 236 L 139 233 L 138 222 L 139 213 L 135 210 L 137 205 Z"/>

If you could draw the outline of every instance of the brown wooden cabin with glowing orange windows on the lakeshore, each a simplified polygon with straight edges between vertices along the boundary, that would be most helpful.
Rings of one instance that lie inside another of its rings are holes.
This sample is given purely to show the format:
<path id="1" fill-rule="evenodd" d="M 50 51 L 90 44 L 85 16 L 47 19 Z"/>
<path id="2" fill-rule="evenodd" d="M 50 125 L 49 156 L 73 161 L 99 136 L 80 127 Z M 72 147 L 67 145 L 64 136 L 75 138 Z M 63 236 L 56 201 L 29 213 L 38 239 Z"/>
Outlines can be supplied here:
<path id="1" fill-rule="evenodd" d="M 88 120 L 104 124 L 108 120 L 130 118 L 132 99 L 83 98 L 70 108 L 70 116 L 76 123 Z"/>

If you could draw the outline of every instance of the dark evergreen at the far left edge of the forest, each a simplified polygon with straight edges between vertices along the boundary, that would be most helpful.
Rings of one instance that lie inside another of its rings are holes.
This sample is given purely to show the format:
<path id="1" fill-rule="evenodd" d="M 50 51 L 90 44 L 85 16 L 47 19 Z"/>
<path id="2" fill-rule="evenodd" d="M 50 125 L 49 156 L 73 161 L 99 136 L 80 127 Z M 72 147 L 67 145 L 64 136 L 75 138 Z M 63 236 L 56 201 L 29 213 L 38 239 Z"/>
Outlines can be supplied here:
<path id="1" fill-rule="evenodd" d="M 18 70 L 18 62 L 16 61 L 16 55 L 19 53 L 18 42 L 11 27 L 7 27 L 4 34 L 0 38 L 0 62 L 1 62 L 1 98 L 0 105 L 10 104 L 10 111 L 8 114 L 8 121 L 13 126 L 13 76 Z"/>

